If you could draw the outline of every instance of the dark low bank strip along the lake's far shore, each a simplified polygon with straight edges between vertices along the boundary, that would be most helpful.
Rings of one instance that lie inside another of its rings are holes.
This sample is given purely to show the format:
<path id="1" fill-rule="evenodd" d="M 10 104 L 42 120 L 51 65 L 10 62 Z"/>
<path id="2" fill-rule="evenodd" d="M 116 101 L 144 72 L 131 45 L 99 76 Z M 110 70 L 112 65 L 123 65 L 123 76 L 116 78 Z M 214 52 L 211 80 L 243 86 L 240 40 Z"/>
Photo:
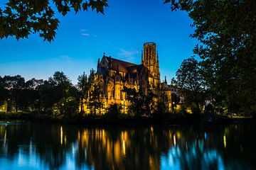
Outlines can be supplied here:
<path id="1" fill-rule="evenodd" d="M 248 123 L 253 119 L 239 120 L 224 115 L 186 113 L 166 113 L 149 117 L 131 115 L 48 115 L 38 111 L 26 113 L 0 112 L 0 120 L 31 120 L 43 123 L 68 123 L 85 125 L 174 125 L 174 124 L 210 124 L 210 123 Z"/>

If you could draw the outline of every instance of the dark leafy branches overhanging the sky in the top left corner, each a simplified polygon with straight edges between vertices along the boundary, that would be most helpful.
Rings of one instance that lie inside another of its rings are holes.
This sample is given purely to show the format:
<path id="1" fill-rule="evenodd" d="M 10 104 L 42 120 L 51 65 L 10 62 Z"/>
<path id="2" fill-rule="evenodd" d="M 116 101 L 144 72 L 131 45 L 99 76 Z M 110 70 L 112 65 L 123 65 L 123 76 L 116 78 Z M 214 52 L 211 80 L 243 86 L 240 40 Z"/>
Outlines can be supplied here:
<path id="1" fill-rule="evenodd" d="M 55 11 L 63 16 L 70 10 L 78 13 L 89 8 L 104 13 L 107 6 L 107 0 L 9 0 L 4 8 L 0 8 L 0 38 L 15 36 L 18 40 L 39 33 L 41 38 L 51 41 L 59 23 Z"/>

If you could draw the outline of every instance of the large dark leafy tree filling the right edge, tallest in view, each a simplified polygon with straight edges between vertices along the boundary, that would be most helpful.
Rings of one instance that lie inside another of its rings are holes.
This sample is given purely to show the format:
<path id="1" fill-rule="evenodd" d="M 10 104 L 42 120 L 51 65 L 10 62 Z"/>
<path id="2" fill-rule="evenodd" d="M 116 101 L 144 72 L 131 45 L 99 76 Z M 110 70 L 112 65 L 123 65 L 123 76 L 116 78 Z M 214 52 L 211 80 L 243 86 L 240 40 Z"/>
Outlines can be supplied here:
<path id="1" fill-rule="evenodd" d="M 200 44 L 204 77 L 230 112 L 256 113 L 256 1 L 166 0 L 187 11 Z"/>

